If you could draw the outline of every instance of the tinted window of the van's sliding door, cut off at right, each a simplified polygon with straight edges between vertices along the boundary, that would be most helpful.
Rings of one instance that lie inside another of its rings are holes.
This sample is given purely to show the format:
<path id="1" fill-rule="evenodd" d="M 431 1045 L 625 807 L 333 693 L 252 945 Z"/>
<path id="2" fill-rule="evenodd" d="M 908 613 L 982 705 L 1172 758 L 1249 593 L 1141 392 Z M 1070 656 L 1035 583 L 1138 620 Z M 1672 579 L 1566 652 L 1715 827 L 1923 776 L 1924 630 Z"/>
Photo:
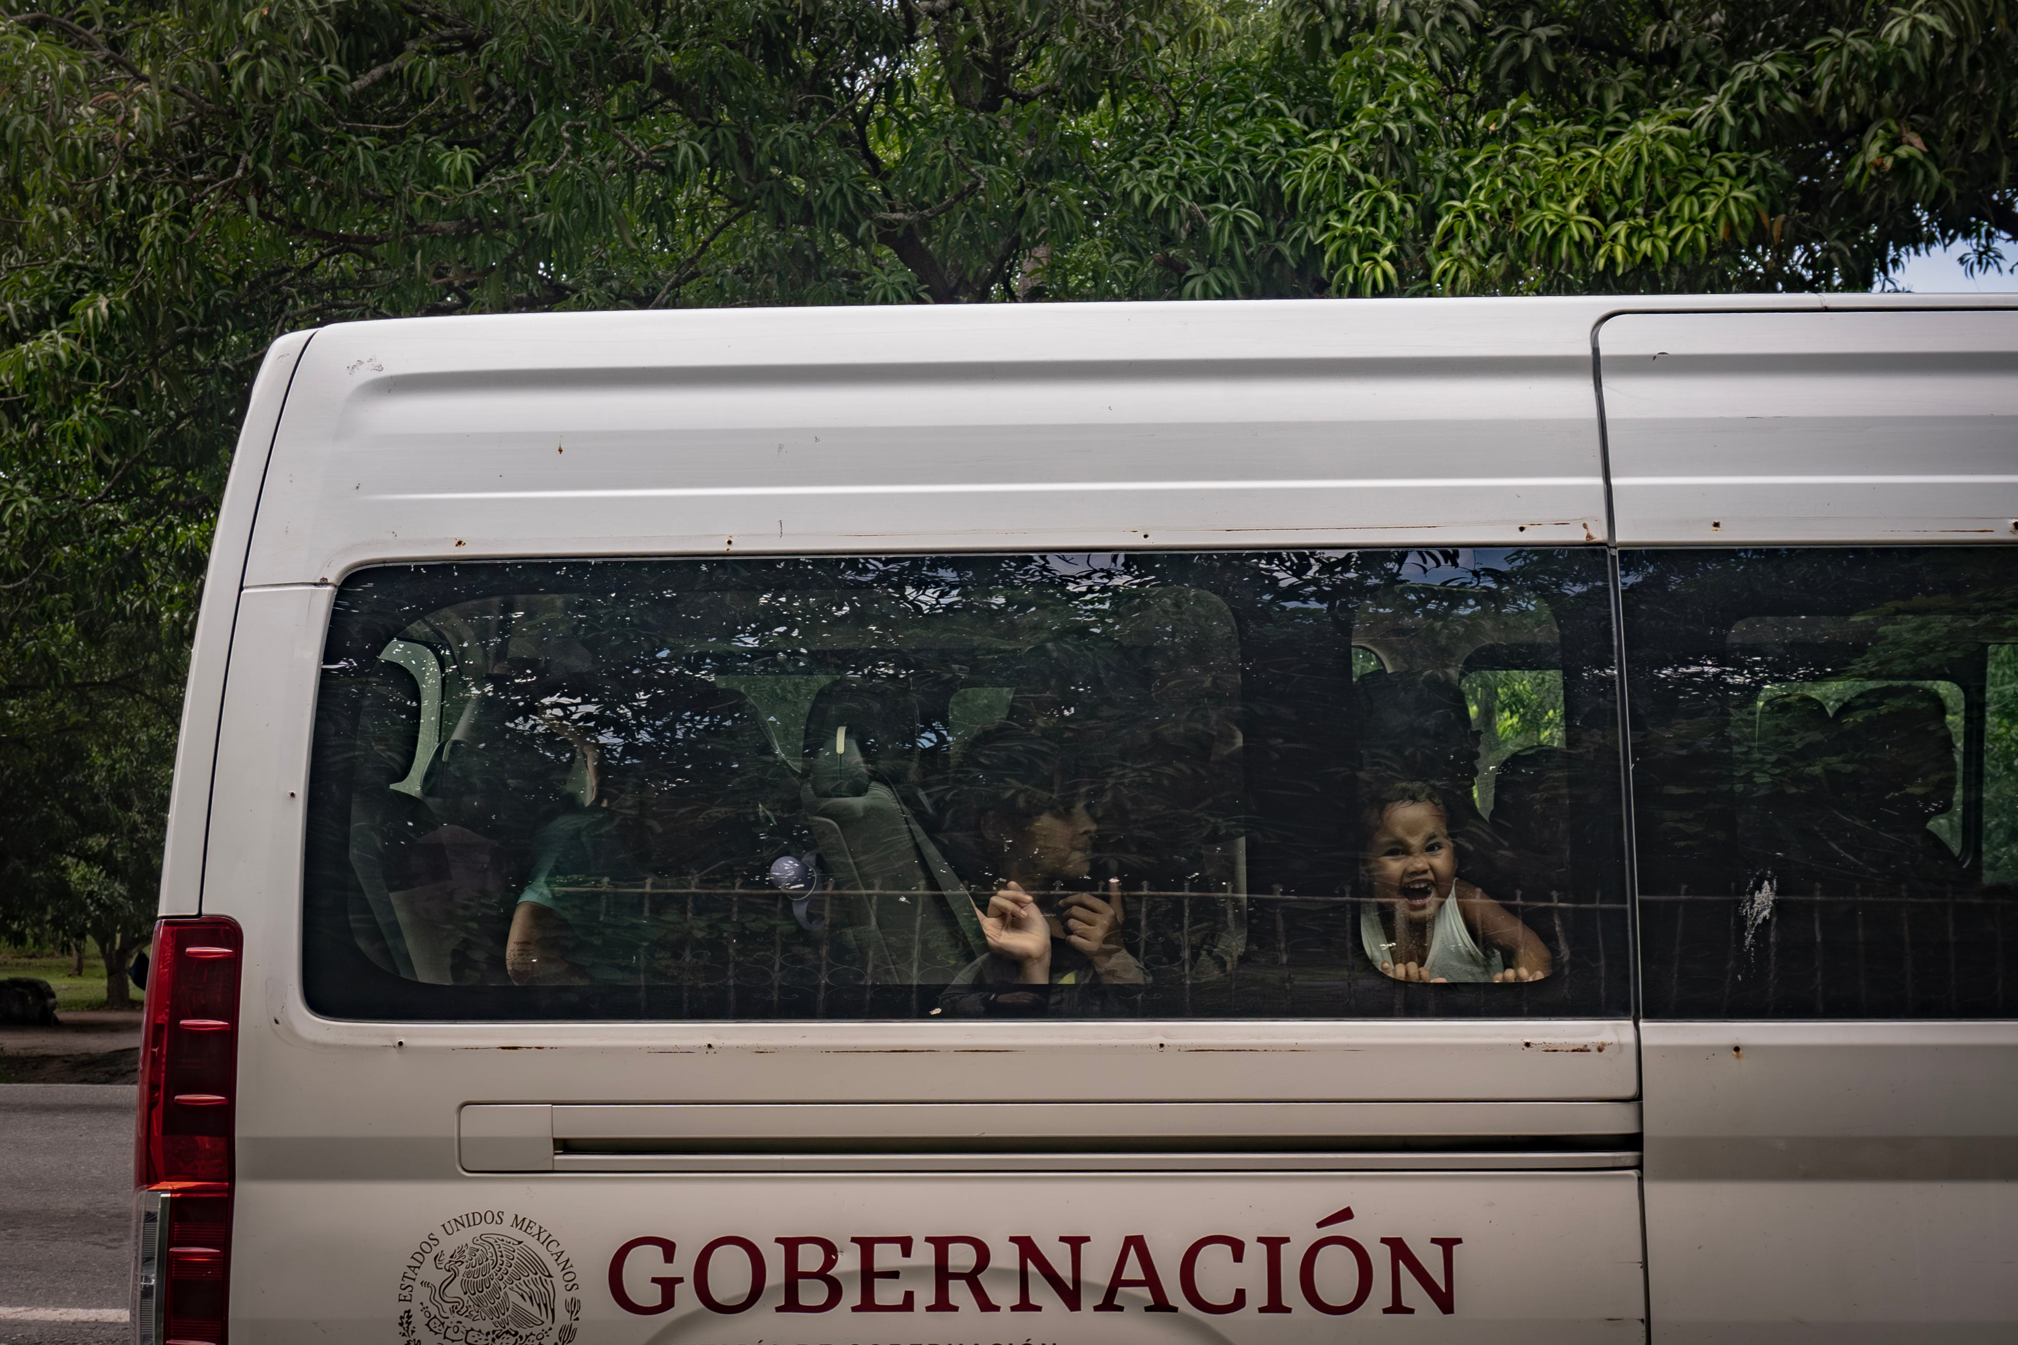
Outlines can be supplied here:
<path id="1" fill-rule="evenodd" d="M 2006 1016 L 2018 555 L 1624 559 L 1655 1016 Z"/>

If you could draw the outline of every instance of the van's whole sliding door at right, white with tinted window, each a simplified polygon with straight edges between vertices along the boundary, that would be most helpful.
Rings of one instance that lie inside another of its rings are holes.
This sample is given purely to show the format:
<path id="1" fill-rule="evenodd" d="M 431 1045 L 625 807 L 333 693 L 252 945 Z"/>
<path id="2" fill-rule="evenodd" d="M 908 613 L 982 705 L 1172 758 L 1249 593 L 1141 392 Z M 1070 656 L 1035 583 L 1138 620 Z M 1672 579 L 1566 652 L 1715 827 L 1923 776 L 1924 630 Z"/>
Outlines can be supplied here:
<path id="1" fill-rule="evenodd" d="M 1600 353 L 1653 1337 L 2010 1339 L 2018 313 Z"/>

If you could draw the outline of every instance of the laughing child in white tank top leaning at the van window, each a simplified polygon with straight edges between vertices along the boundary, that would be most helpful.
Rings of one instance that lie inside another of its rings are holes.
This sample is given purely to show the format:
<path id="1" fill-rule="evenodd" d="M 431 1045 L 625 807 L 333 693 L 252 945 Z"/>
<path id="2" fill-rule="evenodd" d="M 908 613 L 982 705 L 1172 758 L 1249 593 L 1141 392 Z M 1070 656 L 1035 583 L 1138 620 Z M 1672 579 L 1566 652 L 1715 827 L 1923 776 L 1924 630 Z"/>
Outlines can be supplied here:
<path id="1" fill-rule="evenodd" d="M 1554 968 L 1518 915 L 1457 877 L 1449 811 L 1431 784 L 1394 784 L 1360 815 L 1360 944 L 1394 980 L 1524 982 Z"/>

